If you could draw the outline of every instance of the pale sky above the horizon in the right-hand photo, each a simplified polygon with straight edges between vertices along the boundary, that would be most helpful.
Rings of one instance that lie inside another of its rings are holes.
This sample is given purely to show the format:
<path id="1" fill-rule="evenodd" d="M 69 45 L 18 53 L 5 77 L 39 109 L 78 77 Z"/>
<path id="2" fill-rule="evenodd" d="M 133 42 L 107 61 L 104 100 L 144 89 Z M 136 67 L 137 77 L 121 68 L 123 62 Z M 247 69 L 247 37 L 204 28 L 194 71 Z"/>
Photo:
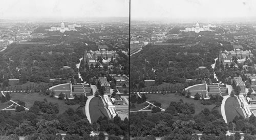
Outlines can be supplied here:
<path id="1" fill-rule="evenodd" d="M 256 16 L 254 0 L 131 0 L 131 20 Z"/>

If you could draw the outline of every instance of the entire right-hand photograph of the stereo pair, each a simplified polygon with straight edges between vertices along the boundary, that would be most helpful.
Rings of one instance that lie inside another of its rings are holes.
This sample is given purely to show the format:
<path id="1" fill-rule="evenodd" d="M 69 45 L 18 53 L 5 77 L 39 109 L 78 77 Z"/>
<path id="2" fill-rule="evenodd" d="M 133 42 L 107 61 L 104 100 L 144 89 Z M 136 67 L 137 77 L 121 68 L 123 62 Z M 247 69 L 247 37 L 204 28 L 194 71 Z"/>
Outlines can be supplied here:
<path id="1" fill-rule="evenodd" d="M 256 139 L 255 6 L 131 0 L 130 139 Z"/>

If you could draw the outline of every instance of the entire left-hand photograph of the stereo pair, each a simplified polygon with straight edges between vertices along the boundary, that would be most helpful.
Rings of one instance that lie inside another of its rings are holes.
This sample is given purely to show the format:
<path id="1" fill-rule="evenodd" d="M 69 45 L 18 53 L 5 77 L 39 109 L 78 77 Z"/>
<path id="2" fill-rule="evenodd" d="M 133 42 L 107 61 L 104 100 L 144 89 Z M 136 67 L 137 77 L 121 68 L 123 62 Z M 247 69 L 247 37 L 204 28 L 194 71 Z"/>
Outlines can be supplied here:
<path id="1" fill-rule="evenodd" d="M 129 139 L 130 1 L 3 1 L 0 139 Z"/>

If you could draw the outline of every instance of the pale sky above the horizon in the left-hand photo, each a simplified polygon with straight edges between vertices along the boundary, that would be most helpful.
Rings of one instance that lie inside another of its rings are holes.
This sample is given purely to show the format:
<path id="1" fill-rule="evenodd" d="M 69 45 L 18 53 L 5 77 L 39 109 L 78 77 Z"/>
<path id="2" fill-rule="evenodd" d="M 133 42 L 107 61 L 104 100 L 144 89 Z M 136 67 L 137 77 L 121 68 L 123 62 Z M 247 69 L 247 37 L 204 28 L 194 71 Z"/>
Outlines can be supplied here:
<path id="1" fill-rule="evenodd" d="M 129 17 L 129 0 L 1 0 L 6 17 Z"/>

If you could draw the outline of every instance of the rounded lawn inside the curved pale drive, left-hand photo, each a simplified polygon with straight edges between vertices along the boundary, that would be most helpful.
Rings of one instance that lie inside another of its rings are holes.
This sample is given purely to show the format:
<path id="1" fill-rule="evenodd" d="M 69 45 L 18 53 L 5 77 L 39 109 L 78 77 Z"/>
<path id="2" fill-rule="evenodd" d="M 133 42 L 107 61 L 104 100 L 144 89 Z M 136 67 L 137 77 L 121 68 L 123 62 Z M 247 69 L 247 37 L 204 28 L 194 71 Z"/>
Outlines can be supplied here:
<path id="1" fill-rule="evenodd" d="M 104 104 L 99 97 L 94 97 L 90 101 L 89 111 L 90 111 L 92 123 L 96 122 L 100 116 L 102 117 L 106 116 L 109 118 L 109 115 L 106 112 L 106 109 L 104 108 Z"/>

